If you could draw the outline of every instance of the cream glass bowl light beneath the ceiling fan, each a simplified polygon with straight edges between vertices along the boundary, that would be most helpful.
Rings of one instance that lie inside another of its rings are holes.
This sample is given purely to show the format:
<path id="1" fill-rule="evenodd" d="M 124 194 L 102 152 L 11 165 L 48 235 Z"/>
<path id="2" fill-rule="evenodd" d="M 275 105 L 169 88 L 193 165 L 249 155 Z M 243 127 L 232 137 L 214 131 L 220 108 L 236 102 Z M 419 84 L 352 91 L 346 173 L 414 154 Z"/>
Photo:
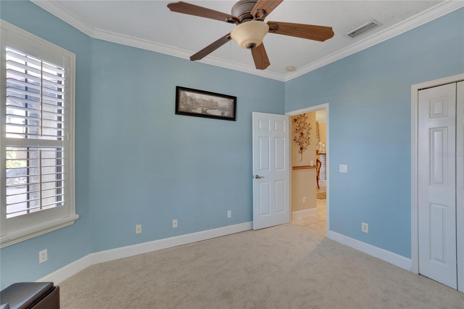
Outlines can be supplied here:
<path id="1" fill-rule="evenodd" d="M 238 24 L 231 32 L 231 39 L 236 41 L 241 48 L 251 49 L 251 46 L 261 45 L 268 32 L 269 26 L 264 21 L 251 20 Z"/>

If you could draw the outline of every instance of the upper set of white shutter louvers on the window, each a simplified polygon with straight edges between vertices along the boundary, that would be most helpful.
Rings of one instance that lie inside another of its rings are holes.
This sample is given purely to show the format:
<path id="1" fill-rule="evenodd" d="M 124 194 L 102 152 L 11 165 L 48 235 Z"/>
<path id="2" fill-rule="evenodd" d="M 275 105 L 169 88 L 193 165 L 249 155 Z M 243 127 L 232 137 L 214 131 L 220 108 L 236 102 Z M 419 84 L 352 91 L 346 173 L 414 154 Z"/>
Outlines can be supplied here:
<path id="1" fill-rule="evenodd" d="M 57 66 L 6 48 L 7 137 L 63 139 L 64 73 Z"/>

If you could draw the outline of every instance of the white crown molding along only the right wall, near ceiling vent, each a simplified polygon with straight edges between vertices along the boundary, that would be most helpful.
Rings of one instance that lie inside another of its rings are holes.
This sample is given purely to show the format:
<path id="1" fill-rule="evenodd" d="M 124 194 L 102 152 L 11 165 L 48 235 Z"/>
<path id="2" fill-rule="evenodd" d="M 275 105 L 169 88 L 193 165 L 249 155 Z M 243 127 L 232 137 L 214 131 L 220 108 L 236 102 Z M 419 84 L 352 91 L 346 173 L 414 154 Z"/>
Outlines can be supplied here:
<path id="1" fill-rule="evenodd" d="M 416 14 L 408 19 L 402 20 L 399 23 L 390 26 L 382 31 L 376 32 L 375 34 L 371 35 L 370 37 L 367 37 L 366 39 L 359 40 L 356 43 L 342 48 L 337 52 L 334 52 L 310 64 L 306 64 L 298 70 L 286 74 L 284 81 L 286 82 L 290 79 L 299 77 L 305 73 L 314 71 L 324 65 L 352 55 L 355 52 L 362 51 L 363 49 L 371 47 L 372 45 L 378 44 L 387 39 L 391 39 L 415 27 L 424 25 L 425 23 L 432 21 L 433 19 L 437 19 L 438 17 L 441 17 L 447 13 L 451 13 L 452 11 L 457 10 L 458 8 L 461 8 L 463 6 L 464 1 L 447 0 L 440 2 L 436 6 L 432 6 L 431 8 L 423 12 L 420 12 L 419 14 Z"/>

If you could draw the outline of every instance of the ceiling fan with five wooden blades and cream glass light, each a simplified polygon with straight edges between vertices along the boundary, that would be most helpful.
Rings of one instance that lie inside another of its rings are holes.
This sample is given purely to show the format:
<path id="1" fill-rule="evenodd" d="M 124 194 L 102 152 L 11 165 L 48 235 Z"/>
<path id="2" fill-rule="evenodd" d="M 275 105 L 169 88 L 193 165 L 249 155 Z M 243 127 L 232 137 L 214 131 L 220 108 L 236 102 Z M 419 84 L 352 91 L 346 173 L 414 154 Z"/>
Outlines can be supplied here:
<path id="1" fill-rule="evenodd" d="M 323 42 L 334 36 L 332 27 L 306 24 L 286 23 L 282 21 L 264 22 L 283 0 L 240 0 L 232 6 L 231 14 L 218 12 L 203 6 L 179 1 L 168 4 L 172 12 L 200 16 L 225 21 L 237 26 L 228 34 L 192 55 L 190 60 L 200 60 L 206 55 L 234 40 L 242 48 L 251 50 L 251 55 L 258 70 L 266 69 L 271 63 L 264 49 L 263 39 L 268 33 L 289 35 L 296 38 Z"/>

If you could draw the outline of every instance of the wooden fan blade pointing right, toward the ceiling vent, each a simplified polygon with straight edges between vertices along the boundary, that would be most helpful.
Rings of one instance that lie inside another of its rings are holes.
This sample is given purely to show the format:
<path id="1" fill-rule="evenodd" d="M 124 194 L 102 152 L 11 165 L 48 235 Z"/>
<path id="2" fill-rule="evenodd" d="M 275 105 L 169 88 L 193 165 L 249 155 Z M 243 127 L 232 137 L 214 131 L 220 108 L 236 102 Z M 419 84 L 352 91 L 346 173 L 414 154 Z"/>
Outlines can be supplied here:
<path id="1" fill-rule="evenodd" d="M 334 36 L 332 27 L 268 21 L 269 32 L 323 42 Z M 273 26 L 274 25 L 274 26 Z M 275 27 L 277 25 L 277 28 Z"/>

